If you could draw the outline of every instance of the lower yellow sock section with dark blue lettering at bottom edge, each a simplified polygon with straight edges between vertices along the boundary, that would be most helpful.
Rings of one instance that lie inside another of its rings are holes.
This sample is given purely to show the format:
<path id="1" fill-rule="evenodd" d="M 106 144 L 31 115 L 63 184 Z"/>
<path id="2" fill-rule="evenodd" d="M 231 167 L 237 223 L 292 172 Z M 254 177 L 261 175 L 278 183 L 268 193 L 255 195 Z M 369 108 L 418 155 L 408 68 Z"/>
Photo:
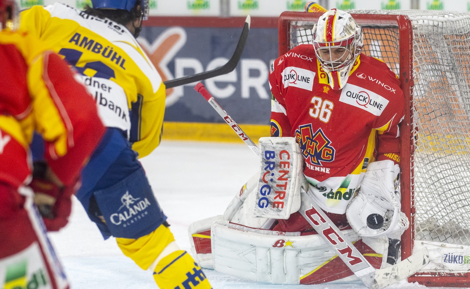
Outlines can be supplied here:
<path id="1" fill-rule="evenodd" d="M 203 270 L 186 251 L 175 251 L 161 259 L 153 272 L 161 289 L 211 289 Z"/>

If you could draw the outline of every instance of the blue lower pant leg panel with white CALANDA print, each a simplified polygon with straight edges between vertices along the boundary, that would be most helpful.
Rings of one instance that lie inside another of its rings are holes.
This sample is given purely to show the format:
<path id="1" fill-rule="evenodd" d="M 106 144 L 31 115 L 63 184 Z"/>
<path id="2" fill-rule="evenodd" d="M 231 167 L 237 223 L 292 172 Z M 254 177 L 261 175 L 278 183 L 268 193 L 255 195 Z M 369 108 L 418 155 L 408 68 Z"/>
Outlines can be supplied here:
<path id="1" fill-rule="evenodd" d="M 94 198 L 114 237 L 137 239 L 166 220 L 143 168 L 115 185 L 95 191 Z"/>

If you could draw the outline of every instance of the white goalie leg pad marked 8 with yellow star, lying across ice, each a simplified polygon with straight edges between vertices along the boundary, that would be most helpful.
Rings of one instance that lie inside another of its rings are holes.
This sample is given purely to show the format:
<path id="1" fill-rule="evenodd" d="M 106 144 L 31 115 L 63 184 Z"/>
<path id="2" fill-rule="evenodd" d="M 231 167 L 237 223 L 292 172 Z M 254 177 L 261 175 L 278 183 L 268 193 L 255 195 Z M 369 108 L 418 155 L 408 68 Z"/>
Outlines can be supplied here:
<path id="1" fill-rule="evenodd" d="M 351 242 L 358 240 L 353 230 L 342 232 Z M 300 278 L 336 255 L 319 235 L 299 235 L 214 222 L 214 269 L 256 282 L 299 284 Z"/>

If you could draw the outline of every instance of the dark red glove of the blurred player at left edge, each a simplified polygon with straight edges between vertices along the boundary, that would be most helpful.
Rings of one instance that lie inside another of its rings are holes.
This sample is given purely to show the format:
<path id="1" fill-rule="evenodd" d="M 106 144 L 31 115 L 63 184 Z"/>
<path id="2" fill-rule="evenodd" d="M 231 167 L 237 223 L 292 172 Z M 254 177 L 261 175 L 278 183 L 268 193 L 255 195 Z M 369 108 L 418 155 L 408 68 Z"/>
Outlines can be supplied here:
<path id="1" fill-rule="evenodd" d="M 35 162 L 30 188 L 34 192 L 34 203 L 44 219 L 48 231 L 58 231 L 68 222 L 71 213 L 71 196 L 80 182 L 63 185 L 46 163 Z"/>

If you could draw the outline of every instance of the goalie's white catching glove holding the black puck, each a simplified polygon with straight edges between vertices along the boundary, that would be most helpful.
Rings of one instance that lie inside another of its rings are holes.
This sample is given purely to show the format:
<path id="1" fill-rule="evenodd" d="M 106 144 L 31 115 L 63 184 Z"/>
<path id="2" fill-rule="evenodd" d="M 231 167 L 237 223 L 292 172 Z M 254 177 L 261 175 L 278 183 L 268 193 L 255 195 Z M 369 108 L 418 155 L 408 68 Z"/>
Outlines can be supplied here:
<path id="1" fill-rule="evenodd" d="M 400 212 L 400 191 L 395 189 L 398 165 L 393 161 L 384 160 L 370 163 L 360 185 L 359 193 L 346 208 L 346 217 L 362 237 L 389 237 L 399 239 L 408 229 L 409 221 Z M 368 225 L 369 215 L 378 214 L 383 218 L 379 228 Z"/>

